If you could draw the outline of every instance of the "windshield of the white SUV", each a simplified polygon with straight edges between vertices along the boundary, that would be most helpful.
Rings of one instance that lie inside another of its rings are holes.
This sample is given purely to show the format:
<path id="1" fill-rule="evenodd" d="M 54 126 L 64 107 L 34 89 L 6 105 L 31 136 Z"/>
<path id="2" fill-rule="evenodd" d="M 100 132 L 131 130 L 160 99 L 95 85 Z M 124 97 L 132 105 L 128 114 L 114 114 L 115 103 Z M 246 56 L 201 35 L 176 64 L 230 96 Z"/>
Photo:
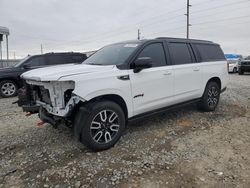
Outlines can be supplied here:
<path id="1" fill-rule="evenodd" d="M 139 43 L 120 43 L 105 46 L 87 60 L 90 65 L 121 65 L 137 49 Z"/>

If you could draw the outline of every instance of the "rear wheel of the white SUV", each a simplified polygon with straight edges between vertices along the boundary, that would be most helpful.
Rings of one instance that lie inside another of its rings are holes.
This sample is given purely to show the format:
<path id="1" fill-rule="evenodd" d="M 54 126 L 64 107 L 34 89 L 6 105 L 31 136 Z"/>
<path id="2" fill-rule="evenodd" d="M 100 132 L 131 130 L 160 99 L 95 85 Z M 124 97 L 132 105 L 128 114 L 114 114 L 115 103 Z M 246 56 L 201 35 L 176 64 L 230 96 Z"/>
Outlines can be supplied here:
<path id="1" fill-rule="evenodd" d="M 205 112 L 214 111 L 220 100 L 220 87 L 216 82 L 208 82 L 198 108 Z"/>

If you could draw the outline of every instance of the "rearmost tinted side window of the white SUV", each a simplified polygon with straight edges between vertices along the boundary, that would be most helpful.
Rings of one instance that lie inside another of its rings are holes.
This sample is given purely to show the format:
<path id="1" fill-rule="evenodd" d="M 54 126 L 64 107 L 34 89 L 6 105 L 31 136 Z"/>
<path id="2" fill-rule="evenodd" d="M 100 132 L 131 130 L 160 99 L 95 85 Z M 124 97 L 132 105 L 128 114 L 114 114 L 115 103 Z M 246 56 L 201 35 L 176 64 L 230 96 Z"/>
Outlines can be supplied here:
<path id="1" fill-rule="evenodd" d="M 202 61 L 225 60 L 224 53 L 218 45 L 195 44 L 195 46 L 200 53 Z"/>

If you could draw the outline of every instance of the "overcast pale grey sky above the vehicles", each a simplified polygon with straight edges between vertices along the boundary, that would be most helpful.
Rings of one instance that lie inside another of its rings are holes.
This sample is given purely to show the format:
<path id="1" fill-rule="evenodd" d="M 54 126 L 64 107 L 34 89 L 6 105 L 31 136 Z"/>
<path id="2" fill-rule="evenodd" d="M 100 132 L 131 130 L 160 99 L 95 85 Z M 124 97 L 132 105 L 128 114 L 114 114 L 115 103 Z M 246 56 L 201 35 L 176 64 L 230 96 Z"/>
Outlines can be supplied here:
<path id="1" fill-rule="evenodd" d="M 192 38 L 250 54 L 249 1 L 190 2 Z M 185 6 L 185 0 L 0 0 L 0 24 L 11 32 L 10 56 L 39 53 L 40 44 L 45 52 L 87 51 L 136 39 L 138 28 L 144 38 L 185 37 Z"/>

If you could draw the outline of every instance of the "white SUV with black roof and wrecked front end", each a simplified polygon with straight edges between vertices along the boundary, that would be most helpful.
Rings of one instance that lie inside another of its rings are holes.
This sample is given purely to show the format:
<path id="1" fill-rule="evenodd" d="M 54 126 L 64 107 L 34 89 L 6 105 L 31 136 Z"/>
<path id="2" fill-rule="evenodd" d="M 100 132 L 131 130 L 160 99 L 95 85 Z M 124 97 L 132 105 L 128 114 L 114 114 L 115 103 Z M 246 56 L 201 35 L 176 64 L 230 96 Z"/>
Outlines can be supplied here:
<path id="1" fill-rule="evenodd" d="M 227 61 L 218 44 L 157 38 L 106 46 L 82 64 L 26 72 L 19 106 L 43 122 L 72 125 L 93 150 L 112 147 L 128 121 L 197 102 L 213 111 L 226 89 Z"/>

